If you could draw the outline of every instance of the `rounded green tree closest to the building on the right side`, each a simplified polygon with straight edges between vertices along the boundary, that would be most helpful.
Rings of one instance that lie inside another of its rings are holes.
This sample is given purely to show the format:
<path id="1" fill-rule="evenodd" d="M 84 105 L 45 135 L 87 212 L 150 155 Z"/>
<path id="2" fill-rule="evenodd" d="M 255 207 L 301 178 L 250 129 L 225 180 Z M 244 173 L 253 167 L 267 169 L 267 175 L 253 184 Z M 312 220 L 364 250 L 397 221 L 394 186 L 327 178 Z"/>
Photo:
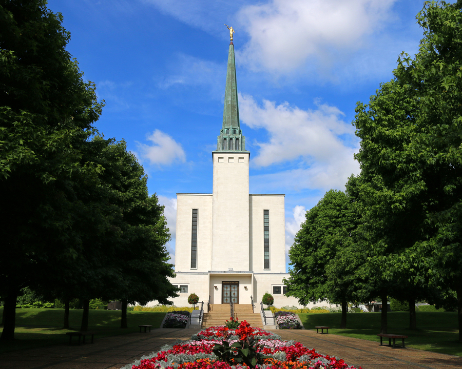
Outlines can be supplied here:
<path id="1" fill-rule="evenodd" d="M 353 176 L 350 179 L 355 180 Z M 305 222 L 289 251 L 287 295 L 307 302 L 329 300 L 342 306 L 341 328 L 347 324 L 348 301 L 356 299 L 361 265 L 354 232 L 359 214 L 354 198 L 330 190 L 306 212 Z"/>

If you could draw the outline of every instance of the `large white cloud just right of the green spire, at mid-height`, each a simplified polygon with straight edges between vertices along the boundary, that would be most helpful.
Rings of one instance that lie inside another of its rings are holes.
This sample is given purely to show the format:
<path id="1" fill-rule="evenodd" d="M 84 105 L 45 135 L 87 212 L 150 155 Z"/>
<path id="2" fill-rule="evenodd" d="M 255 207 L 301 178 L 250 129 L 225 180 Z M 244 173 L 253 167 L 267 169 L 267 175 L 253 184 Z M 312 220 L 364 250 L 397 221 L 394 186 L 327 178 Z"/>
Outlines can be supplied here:
<path id="1" fill-rule="evenodd" d="M 342 120 L 344 114 L 336 107 L 318 104 L 317 110 L 301 110 L 288 103 L 276 105 L 268 100 L 259 106 L 252 96 L 240 95 L 239 108 L 245 125 L 264 128 L 269 135 L 267 142 L 256 142 L 260 151 L 253 163 L 258 166 L 302 158 L 319 182 L 323 172 L 340 170 L 345 157 L 354 162 L 353 153 L 359 148 L 359 142 L 354 138 L 353 127 Z M 353 140 L 355 147 L 345 144 L 345 138 Z"/>

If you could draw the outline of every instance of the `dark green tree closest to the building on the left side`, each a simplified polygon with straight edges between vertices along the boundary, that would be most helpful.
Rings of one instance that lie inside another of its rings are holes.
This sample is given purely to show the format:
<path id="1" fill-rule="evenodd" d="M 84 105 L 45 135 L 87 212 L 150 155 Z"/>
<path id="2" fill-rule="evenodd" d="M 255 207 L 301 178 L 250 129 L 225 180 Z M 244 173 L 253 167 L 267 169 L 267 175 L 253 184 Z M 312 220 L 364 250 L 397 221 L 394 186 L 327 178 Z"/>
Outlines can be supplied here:
<path id="1" fill-rule="evenodd" d="M 107 280 L 107 296 L 119 296 L 122 301 L 121 327 L 127 327 L 127 303 L 145 305 L 157 300 L 171 304 L 169 297 L 177 296 L 168 277 L 175 277 L 165 244 L 170 239 L 164 207 L 156 195 L 149 196 L 147 176 L 137 158 L 126 150 L 125 141 L 115 142 L 95 137 L 106 145 L 99 158 L 104 168 L 102 186 L 109 202 L 117 206 L 117 219 L 112 227 L 117 239 L 112 241 L 110 265 L 114 273 Z M 114 232 L 112 232 L 114 233 Z"/>

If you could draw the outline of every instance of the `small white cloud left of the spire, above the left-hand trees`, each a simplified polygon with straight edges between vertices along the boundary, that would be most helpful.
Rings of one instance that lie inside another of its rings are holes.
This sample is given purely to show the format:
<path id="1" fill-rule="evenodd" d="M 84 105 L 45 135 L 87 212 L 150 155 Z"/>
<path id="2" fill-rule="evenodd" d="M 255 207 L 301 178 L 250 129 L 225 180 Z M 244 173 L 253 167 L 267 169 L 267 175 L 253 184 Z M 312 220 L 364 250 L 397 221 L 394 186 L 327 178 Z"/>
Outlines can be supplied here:
<path id="1" fill-rule="evenodd" d="M 166 133 L 155 130 L 147 136 L 147 140 L 151 141 L 153 145 L 137 142 L 137 146 L 140 157 L 149 160 L 151 165 L 169 165 L 176 160 L 186 161 L 186 155 L 181 145 Z"/>

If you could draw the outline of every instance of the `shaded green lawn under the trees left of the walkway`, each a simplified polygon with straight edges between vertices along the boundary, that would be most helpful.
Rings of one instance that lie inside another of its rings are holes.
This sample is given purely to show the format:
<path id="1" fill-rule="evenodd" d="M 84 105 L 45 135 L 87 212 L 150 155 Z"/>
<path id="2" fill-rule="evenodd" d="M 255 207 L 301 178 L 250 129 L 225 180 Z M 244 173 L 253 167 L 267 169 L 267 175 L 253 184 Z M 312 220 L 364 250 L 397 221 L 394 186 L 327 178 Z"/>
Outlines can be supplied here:
<path id="1" fill-rule="evenodd" d="M 0 309 L 0 319 L 2 314 L 3 309 Z M 80 330 L 82 314 L 83 310 L 70 310 L 69 325 L 71 329 L 65 330 L 62 329 L 64 309 L 17 309 L 15 339 L 13 341 L 0 341 L 0 354 L 67 343 L 69 337 L 65 333 Z M 152 328 L 159 328 L 165 314 L 128 311 L 128 328 L 121 329 L 120 311 L 90 310 L 88 329 L 98 332 L 97 337 L 139 332 L 139 324 L 152 324 Z"/>

